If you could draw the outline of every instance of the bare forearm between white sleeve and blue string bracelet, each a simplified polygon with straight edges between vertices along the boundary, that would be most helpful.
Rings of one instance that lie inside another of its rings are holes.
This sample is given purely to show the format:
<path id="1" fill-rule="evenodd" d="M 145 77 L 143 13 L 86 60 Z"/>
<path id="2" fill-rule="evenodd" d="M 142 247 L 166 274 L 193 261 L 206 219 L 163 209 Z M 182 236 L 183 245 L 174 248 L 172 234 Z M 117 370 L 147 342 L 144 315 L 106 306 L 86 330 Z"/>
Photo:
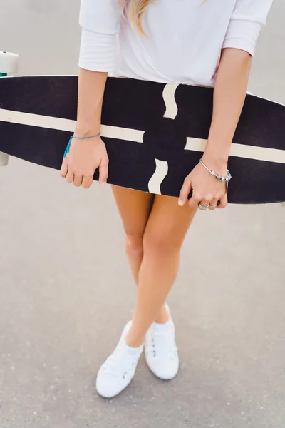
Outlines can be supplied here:
<path id="1" fill-rule="evenodd" d="M 81 136 L 91 136 L 100 132 L 107 74 L 79 69 L 76 133 Z"/>

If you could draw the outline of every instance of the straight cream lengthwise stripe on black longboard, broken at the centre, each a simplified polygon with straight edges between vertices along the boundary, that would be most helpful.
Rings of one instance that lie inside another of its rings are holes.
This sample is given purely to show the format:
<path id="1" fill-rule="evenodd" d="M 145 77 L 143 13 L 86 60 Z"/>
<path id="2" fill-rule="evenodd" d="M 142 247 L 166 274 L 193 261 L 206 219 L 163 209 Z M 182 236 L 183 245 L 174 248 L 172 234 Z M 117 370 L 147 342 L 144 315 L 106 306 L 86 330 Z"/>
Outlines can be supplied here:
<path id="1" fill-rule="evenodd" d="M 1 108 L 0 121 L 69 132 L 73 132 L 76 126 L 75 121 L 69 121 L 68 119 L 53 118 L 51 116 L 41 116 L 31 113 L 21 113 Z M 119 140 L 142 143 L 143 134 L 144 131 L 140 131 L 138 129 L 120 128 L 118 126 L 108 125 L 102 126 L 103 137 L 118 138 Z M 206 140 L 202 140 L 200 138 L 187 137 L 185 149 L 203 152 L 206 143 Z M 285 150 L 279 150 L 276 148 L 246 146 L 244 144 L 232 143 L 230 155 L 236 156 L 237 158 L 285 164 Z"/>

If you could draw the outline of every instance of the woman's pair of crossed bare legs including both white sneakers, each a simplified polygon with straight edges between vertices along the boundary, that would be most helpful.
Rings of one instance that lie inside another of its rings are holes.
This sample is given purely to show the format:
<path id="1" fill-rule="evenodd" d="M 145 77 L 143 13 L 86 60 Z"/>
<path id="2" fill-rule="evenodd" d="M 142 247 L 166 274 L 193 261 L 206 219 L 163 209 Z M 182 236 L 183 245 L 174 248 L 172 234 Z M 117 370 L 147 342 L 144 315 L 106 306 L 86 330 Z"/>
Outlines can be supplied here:
<path id="1" fill-rule="evenodd" d="M 133 322 L 125 325 L 118 345 L 98 371 L 97 391 L 109 398 L 123 391 L 133 379 L 143 351 L 142 342 L 146 342 L 147 365 L 157 377 L 173 379 L 177 374 L 179 357 L 173 322 L 170 320 L 160 326 L 152 322 L 162 308 L 165 310 L 165 300 L 178 270 L 180 248 L 196 212 L 189 205 L 179 207 L 177 198 L 155 196 L 152 205 L 151 195 L 132 190 L 116 192 L 116 189 L 115 193 L 127 234 L 127 247 L 132 244 L 130 263 L 134 276 L 138 275 L 138 293 Z"/>

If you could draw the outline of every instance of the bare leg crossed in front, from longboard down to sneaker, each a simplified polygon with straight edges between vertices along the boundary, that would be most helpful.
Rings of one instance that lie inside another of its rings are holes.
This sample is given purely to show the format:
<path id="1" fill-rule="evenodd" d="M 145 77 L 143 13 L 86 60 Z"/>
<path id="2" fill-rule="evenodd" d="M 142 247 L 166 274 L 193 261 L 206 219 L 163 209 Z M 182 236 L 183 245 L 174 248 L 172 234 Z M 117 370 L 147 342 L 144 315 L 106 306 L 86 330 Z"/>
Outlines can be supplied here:
<path id="1" fill-rule="evenodd" d="M 177 198 L 155 196 L 143 238 L 133 325 L 126 337 L 131 347 L 142 344 L 165 303 L 177 275 L 180 248 L 196 211 L 187 204 L 178 206 Z"/>

